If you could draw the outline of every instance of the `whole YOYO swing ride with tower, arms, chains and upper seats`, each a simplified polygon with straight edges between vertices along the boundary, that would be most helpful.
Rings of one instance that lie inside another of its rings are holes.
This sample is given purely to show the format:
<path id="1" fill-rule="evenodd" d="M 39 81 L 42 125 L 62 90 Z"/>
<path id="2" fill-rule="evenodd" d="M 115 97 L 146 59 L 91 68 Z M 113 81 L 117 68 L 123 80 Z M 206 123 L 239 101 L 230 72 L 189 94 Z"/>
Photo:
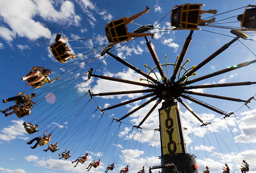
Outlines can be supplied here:
<path id="1" fill-rule="evenodd" d="M 220 95 L 215 95 L 215 94 L 207 94 L 207 93 L 200 93 L 200 92 L 194 91 L 194 89 L 225 88 L 225 87 L 227 88 L 227 87 L 231 87 L 231 86 L 246 86 L 246 85 L 256 84 L 256 81 L 247 81 L 247 82 L 234 82 L 234 83 L 221 83 L 221 84 L 193 85 L 196 82 L 201 82 L 203 80 L 211 79 L 214 76 L 226 74 L 230 71 L 249 66 L 256 62 L 256 60 L 251 60 L 251 61 L 247 61 L 244 63 L 240 63 L 238 65 L 229 66 L 225 69 L 222 69 L 222 70 L 219 70 L 219 71 L 216 71 L 216 72 L 213 72 L 213 73 L 201 76 L 201 77 L 196 77 L 199 69 L 204 67 L 207 63 L 209 63 L 209 61 L 213 60 L 216 56 L 223 53 L 226 49 L 228 49 L 230 47 L 230 45 L 232 45 L 239 39 L 252 41 L 252 39 L 249 39 L 248 36 L 244 33 L 244 32 L 248 32 L 248 31 L 255 32 L 255 28 L 248 27 L 248 26 L 250 26 L 249 25 L 250 23 L 248 21 L 246 21 L 246 18 L 248 18 L 248 16 L 250 17 L 251 14 L 255 15 L 256 6 L 249 5 L 246 7 L 246 10 L 243 14 L 242 21 L 241 21 L 241 28 L 234 29 L 234 28 L 223 27 L 223 26 L 215 26 L 215 27 L 219 27 L 219 28 L 229 29 L 232 36 L 235 36 L 235 37 L 230 38 L 230 41 L 228 43 L 224 44 L 222 47 L 220 47 L 218 50 L 216 50 L 214 53 L 212 53 L 210 56 L 208 56 L 206 59 L 204 59 L 198 65 L 193 65 L 189 69 L 186 68 L 186 65 L 189 63 L 190 60 L 189 59 L 185 60 L 185 55 L 187 53 L 187 50 L 190 47 L 190 43 L 192 41 L 192 36 L 193 36 L 194 32 L 196 30 L 199 30 L 200 29 L 199 27 L 201 27 L 201 26 L 212 26 L 212 27 L 214 26 L 211 24 L 199 22 L 199 18 L 200 18 L 199 11 L 200 11 L 201 6 L 203 6 L 203 4 L 183 4 L 180 6 L 175 6 L 172 9 L 172 14 L 171 14 L 172 29 L 170 29 L 170 30 L 172 30 L 172 31 L 176 31 L 179 29 L 190 30 L 190 33 L 188 34 L 188 36 L 185 40 L 185 43 L 183 45 L 183 48 L 180 52 L 180 55 L 177 56 L 175 63 L 167 63 L 167 57 L 165 56 L 166 63 L 162 64 L 158 58 L 158 55 L 155 51 L 153 43 L 146 36 L 144 37 L 146 46 L 148 48 L 148 51 L 154 61 L 154 65 L 155 65 L 155 67 L 153 67 L 153 68 L 151 68 L 147 64 L 144 65 L 144 67 L 148 70 L 148 73 L 144 72 L 143 70 L 138 69 L 135 65 L 128 63 L 126 60 L 120 58 L 119 56 L 114 55 L 113 52 L 111 51 L 111 49 L 113 48 L 114 45 L 124 42 L 124 41 L 127 41 L 127 42 L 132 41 L 127 32 L 127 27 L 125 25 L 124 19 L 122 18 L 121 20 L 116 20 L 116 21 L 110 22 L 105 27 L 106 36 L 107 36 L 108 42 L 110 44 L 107 45 L 101 51 L 100 56 L 107 56 L 107 55 L 111 56 L 119 63 L 123 64 L 124 66 L 128 67 L 129 69 L 133 70 L 134 72 L 142 75 L 143 78 L 141 78 L 140 81 L 132 81 L 132 80 L 120 79 L 120 78 L 115 78 L 115 77 L 110 77 L 110 76 L 97 75 L 96 74 L 97 71 L 94 71 L 94 69 L 92 69 L 92 68 L 88 72 L 79 74 L 79 76 L 77 76 L 77 78 L 79 78 L 79 77 L 81 78 L 81 77 L 84 77 L 86 74 L 88 77 L 87 80 L 90 80 L 92 77 L 95 77 L 95 78 L 103 79 L 103 80 L 107 80 L 107 81 L 126 83 L 127 85 L 143 86 L 145 88 L 143 90 L 129 90 L 129 91 L 123 91 L 122 88 L 120 88 L 119 91 L 102 92 L 102 93 L 93 93 L 91 90 L 88 91 L 88 94 L 91 97 L 91 99 L 93 97 L 97 97 L 97 96 L 98 97 L 118 96 L 118 95 L 122 95 L 122 94 L 128 95 L 128 94 L 139 93 L 139 94 L 143 95 L 143 96 L 140 96 L 137 98 L 130 99 L 128 101 L 121 102 L 119 104 L 115 104 L 113 106 L 108 106 L 104 109 L 102 109 L 101 107 L 98 107 L 98 109 L 100 109 L 100 111 L 102 113 L 105 113 L 105 111 L 107 111 L 107 110 L 125 106 L 127 104 L 134 103 L 137 101 L 146 100 L 140 106 L 134 108 L 127 114 L 123 115 L 121 118 L 113 119 L 119 123 L 121 123 L 122 120 L 126 119 L 127 117 L 129 117 L 133 113 L 137 112 L 138 110 L 154 103 L 154 105 L 148 110 L 148 112 L 145 112 L 144 118 L 140 121 L 140 123 L 138 125 L 133 125 L 134 128 L 142 129 L 143 123 L 148 119 L 148 117 L 151 115 L 151 113 L 157 107 L 161 107 L 160 109 L 158 109 L 159 128 L 155 129 L 155 130 L 159 131 L 159 133 L 160 133 L 161 156 L 159 158 L 161 159 L 161 164 L 158 166 L 150 166 L 149 167 L 150 173 L 154 169 L 161 169 L 162 173 L 178 173 L 178 172 L 197 173 L 198 172 L 196 158 L 193 154 L 188 153 L 187 148 L 186 148 L 185 137 L 183 134 L 183 130 L 185 128 L 183 128 L 183 125 L 182 125 L 180 104 L 183 107 L 185 107 L 201 123 L 201 126 L 207 126 L 207 125 L 210 125 L 211 123 L 205 122 L 196 112 L 194 112 L 188 106 L 188 104 L 185 103 L 185 100 L 193 102 L 193 103 L 195 103 L 199 106 L 202 106 L 206 109 L 209 109 L 215 113 L 218 113 L 218 114 L 222 115 L 223 118 L 225 119 L 225 118 L 230 117 L 231 115 L 234 115 L 234 112 L 227 113 L 227 112 L 225 112 L 217 107 L 214 107 L 206 102 L 203 102 L 201 99 L 198 99 L 195 97 L 201 96 L 201 98 L 202 97 L 215 98 L 215 99 L 219 99 L 219 100 L 240 102 L 244 105 L 247 105 L 254 99 L 254 97 L 240 99 L 240 98 L 225 97 L 225 96 L 220 96 Z M 196 16 L 195 17 L 196 20 L 190 21 L 191 20 L 190 16 Z M 178 22 L 175 20 L 178 20 Z M 136 29 L 134 32 L 135 33 L 145 33 L 152 29 L 157 29 L 157 28 L 154 28 L 153 25 L 145 25 L 145 26 L 142 26 L 142 27 Z M 68 48 L 65 47 L 65 45 L 60 42 L 56 42 L 56 43 L 52 44 L 50 46 L 50 50 L 52 51 L 55 59 L 63 64 L 69 63 L 73 60 L 76 60 L 76 59 L 82 57 L 81 54 L 78 56 L 75 56 L 74 54 L 70 54 L 70 55 L 63 54 L 63 52 L 68 50 Z M 92 53 L 92 54 L 94 54 L 94 53 Z M 90 64 L 90 63 L 88 63 L 88 64 Z M 86 64 L 86 65 L 88 65 L 88 64 Z M 166 70 L 164 70 L 163 67 L 166 67 Z M 170 67 L 173 68 L 173 72 L 169 76 Z M 84 68 L 84 66 L 74 65 L 68 71 L 66 71 L 64 74 L 65 75 L 69 74 L 78 69 L 80 71 L 83 68 Z M 33 70 L 31 72 L 33 72 Z M 78 73 L 79 71 L 75 71 L 75 72 Z M 158 76 L 158 74 L 160 75 L 160 77 Z M 74 77 L 74 78 L 70 78 L 69 80 L 67 80 L 65 82 L 70 85 L 70 83 L 75 82 L 77 79 Z M 43 87 L 43 84 L 45 82 L 46 81 L 44 79 L 41 83 L 38 83 L 32 87 L 33 88 Z M 66 83 L 63 84 L 61 89 L 65 88 L 65 86 L 68 85 Z M 76 89 L 79 88 L 83 83 L 84 82 L 80 83 L 79 85 L 76 85 L 75 86 Z M 69 89 L 69 88 L 65 88 L 65 90 L 66 89 Z M 60 90 L 60 91 L 65 91 L 65 90 Z M 60 92 L 60 91 L 56 91 L 56 92 Z M 74 90 L 74 92 L 75 91 L 76 90 Z M 19 93 L 19 94 L 22 94 L 22 96 L 25 96 L 24 93 Z M 72 94 L 70 94 L 70 96 L 68 96 L 68 97 L 71 97 L 71 95 Z M 86 94 L 81 96 L 81 99 L 84 98 L 85 95 Z M 29 100 L 29 99 L 27 101 L 28 101 L 28 104 L 32 103 L 31 100 Z M 63 103 L 65 101 L 63 100 Z M 81 109 L 84 109 L 87 106 L 88 102 L 85 103 Z M 71 108 L 71 106 L 70 106 L 70 108 Z M 68 111 L 66 111 L 66 112 L 68 112 Z M 20 115 L 17 115 L 17 116 L 18 116 L 18 118 L 22 118 Z M 68 115 L 67 115 L 67 117 L 68 117 Z M 91 117 L 92 117 L 92 114 L 88 118 L 83 120 L 82 122 L 87 121 L 87 123 L 89 123 L 89 119 Z M 69 119 L 69 118 L 70 117 L 68 117 L 66 119 Z M 64 118 L 61 123 L 63 123 L 64 120 L 66 120 L 66 119 Z M 44 119 L 44 120 L 46 120 L 46 119 Z M 41 120 L 41 121 L 44 121 L 44 120 Z M 73 120 L 70 120 L 70 121 L 73 121 Z M 61 124 L 61 123 L 59 123 L 59 124 Z M 31 125 L 31 127 L 32 127 L 32 124 L 28 124 L 28 125 Z M 97 125 L 95 125 L 95 126 L 97 126 Z M 118 130 L 119 130 L 119 128 L 120 128 L 120 125 L 118 126 Z M 95 129 L 96 129 L 96 127 L 95 127 Z M 91 129 L 91 130 L 93 131 L 95 129 Z M 74 131 L 75 130 L 77 130 L 77 129 L 74 129 Z M 31 128 L 31 130 L 26 129 L 26 131 L 29 134 L 33 134 L 36 132 L 36 129 L 33 129 L 33 128 Z M 79 132 L 79 133 L 81 133 L 81 132 Z M 86 135 L 89 135 L 89 134 L 90 134 L 90 131 L 88 131 L 86 133 Z M 118 131 L 116 131 L 115 134 L 118 134 Z M 65 137 L 63 137 L 61 140 L 63 140 Z M 45 144 L 42 143 L 40 145 L 43 146 Z M 71 148 L 74 148 L 74 147 L 75 147 L 75 145 L 73 145 Z M 52 152 L 55 152 L 55 151 L 57 151 L 57 150 L 52 150 Z M 67 160 L 70 157 L 69 155 L 65 155 L 64 152 L 63 152 L 63 154 L 64 154 L 63 158 L 65 160 Z"/>

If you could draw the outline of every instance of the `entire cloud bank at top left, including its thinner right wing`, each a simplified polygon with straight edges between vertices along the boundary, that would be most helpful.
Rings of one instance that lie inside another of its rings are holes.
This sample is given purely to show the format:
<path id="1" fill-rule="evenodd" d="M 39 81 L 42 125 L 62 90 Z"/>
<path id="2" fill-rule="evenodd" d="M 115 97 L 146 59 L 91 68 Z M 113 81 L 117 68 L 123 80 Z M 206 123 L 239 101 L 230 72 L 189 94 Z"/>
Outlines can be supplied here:
<path id="1" fill-rule="evenodd" d="M 62 25 L 79 25 L 81 18 L 75 14 L 74 4 L 71 1 L 64 1 L 59 8 L 60 11 L 55 10 L 50 0 L 1 1 L 0 16 L 9 28 L 0 27 L 0 36 L 7 41 L 12 41 L 16 35 L 31 40 L 40 37 L 50 38 L 50 30 L 44 26 L 44 23 L 35 21 L 35 16 Z M 67 18 L 69 20 L 66 20 Z"/>

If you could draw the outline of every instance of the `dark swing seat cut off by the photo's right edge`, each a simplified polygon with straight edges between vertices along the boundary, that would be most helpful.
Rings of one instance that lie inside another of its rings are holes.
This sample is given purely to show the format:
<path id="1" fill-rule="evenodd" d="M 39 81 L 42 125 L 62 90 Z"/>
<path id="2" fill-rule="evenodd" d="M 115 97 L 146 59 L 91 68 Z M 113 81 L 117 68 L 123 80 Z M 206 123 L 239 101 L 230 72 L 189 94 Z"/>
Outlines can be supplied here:
<path id="1" fill-rule="evenodd" d="M 242 31 L 256 30 L 256 5 L 248 5 L 242 15 Z"/>

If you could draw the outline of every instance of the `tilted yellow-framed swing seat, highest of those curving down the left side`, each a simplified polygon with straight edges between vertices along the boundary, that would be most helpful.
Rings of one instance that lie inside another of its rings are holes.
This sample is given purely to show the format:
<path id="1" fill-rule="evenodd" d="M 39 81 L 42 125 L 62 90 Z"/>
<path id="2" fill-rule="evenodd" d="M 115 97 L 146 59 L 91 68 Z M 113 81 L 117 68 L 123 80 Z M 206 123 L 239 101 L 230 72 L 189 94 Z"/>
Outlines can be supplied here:
<path id="1" fill-rule="evenodd" d="M 70 58 L 74 58 L 75 54 L 64 54 L 68 49 L 65 47 L 64 43 L 62 42 L 56 42 L 50 45 L 50 50 L 53 53 L 53 56 L 57 61 L 60 63 L 65 63 Z"/>

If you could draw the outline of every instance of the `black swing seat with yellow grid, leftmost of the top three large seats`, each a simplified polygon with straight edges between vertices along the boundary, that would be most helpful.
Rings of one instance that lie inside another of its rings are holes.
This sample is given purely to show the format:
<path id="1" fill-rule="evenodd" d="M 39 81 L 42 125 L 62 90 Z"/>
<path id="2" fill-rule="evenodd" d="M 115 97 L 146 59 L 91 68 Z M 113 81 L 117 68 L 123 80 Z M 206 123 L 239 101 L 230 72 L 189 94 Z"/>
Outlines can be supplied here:
<path id="1" fill-rule="evenodd" d="M 115 45 L 132 39 L 128 34 L 125 23 L 126 18 L 127 17 L 111 21 L 105 26 L 105 33 L 110 44 Z"/>

